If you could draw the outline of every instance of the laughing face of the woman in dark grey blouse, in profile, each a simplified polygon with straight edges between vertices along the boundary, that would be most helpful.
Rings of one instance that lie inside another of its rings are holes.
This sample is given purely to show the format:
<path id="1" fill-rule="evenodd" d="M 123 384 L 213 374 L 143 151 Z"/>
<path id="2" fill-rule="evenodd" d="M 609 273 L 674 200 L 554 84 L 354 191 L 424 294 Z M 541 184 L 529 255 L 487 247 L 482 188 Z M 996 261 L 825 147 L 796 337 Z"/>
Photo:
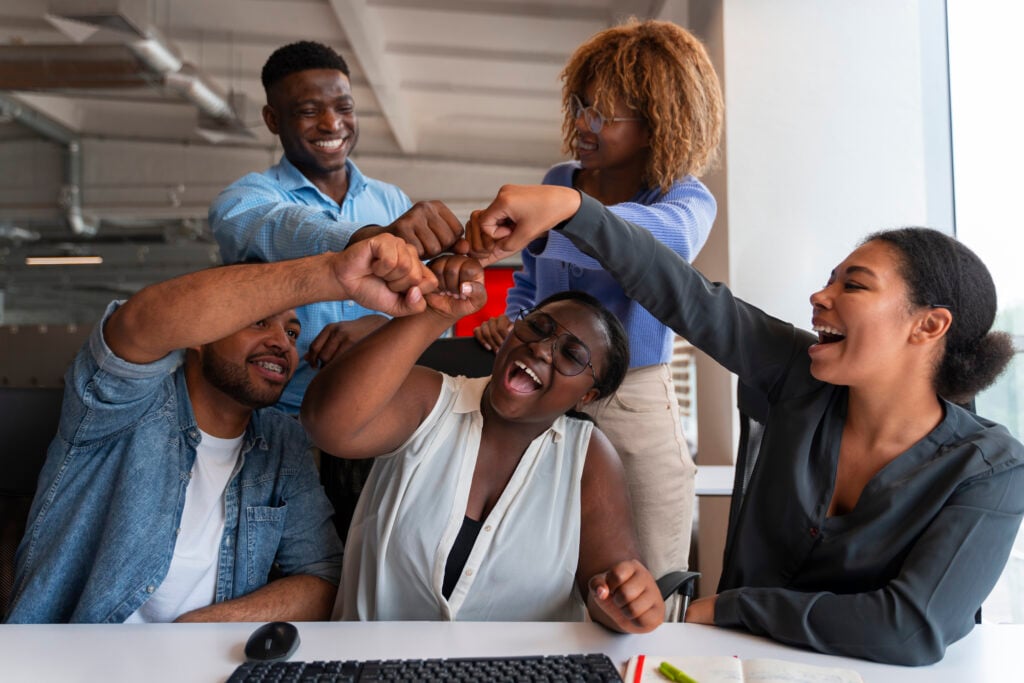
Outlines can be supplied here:
<path id="1" fill-rule="evenodd" d="M 868 242 L 811 295 L 818 343 L 811 374 L 841 386 L 871 387 L 905 376 L 925 312 L 912 310 L 893 247 Z"/>

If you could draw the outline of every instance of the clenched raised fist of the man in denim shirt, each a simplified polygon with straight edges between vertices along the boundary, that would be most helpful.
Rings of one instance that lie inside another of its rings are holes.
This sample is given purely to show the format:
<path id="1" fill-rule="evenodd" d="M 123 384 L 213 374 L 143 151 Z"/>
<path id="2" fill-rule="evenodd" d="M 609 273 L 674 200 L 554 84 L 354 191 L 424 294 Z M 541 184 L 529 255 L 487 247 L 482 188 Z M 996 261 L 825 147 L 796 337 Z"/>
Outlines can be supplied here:
<path id="1" fill-rule="evenodd" d="M 426 308 L 423 295 L 437 279 L 420 261 L 416 249 L 390 234 L 377 234 L 333 254 L 334 274 L 344 298 L 390 315 Z"/>

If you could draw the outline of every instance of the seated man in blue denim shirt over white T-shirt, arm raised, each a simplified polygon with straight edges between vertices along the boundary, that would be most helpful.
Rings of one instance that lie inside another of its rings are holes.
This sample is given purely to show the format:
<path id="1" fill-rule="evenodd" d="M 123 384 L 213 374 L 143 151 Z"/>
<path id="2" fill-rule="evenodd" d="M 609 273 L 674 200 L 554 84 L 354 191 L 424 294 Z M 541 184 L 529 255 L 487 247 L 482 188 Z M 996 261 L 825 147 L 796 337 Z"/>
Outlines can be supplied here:
<path id="1" fill-rule="evenodd" d="M 327 618 L 332 509 L 304 431 L 267 408 L 298 364 L 293 309 L 354 299 L 402 315 L 435 284 L 380 234 L 113 302 L 66 378 L 7 621 Z"/>

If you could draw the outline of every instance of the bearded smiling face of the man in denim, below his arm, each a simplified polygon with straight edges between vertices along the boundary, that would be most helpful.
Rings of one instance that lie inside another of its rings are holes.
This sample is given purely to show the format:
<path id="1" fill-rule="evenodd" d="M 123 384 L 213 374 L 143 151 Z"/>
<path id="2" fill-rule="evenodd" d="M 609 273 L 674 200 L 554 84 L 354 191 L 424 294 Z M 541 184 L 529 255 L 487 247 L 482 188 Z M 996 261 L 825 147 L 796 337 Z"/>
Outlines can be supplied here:
<path id="1" fill-rule="evenodd" d="M 273 405 L 298 366 L 300 331 L 288 310 L 200 347 L 203 380 L 246 408 Z"/>

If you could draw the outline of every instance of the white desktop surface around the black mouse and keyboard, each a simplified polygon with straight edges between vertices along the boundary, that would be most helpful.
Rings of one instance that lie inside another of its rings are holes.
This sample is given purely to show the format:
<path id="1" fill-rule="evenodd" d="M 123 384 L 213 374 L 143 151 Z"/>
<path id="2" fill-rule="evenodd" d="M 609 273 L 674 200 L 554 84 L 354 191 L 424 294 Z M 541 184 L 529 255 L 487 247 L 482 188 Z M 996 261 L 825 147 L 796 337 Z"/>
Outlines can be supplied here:
<path id="1" fill-rule="evenodd" d="M 224 681 L 243 661 L 255 624 L 0 626 L 0 679 L 22 681 Z M 976 627 L 937 665 L 888 667 L 817 654 L 748 634 L 666 624 L 644 636 L 593 624 L 317 623 L 298 624 L 296 660 L 488 656 L 605 652 L 725 654 L 846 667 L 865 683 L 1001 683 L 1021 680 L 1024 626 Z"/>

